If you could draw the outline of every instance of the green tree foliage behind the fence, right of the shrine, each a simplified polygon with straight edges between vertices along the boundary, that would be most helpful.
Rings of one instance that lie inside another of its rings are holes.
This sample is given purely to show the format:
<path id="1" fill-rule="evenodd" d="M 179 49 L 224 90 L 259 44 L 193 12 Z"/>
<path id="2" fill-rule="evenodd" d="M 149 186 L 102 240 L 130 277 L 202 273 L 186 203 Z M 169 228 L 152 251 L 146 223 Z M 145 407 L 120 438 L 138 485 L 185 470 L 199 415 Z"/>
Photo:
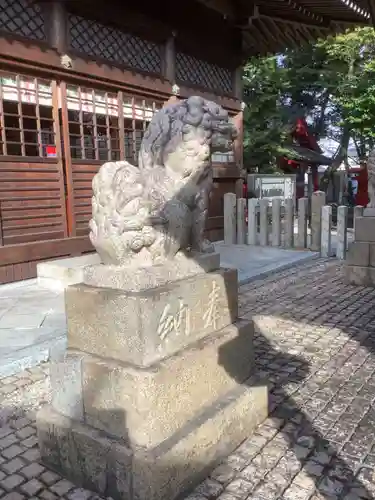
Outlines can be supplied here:
<path id="1" fill-rule="evenodd" d="M 248 168 L 274 168 L 290 151 L 291 130 L 305 116 L 317 140 L 337 140 L 332 169 L 347 159 L 349 140 L 364 158 L 375 144 L 375 31 L 364 27 L 244 69 L 244 157 Z"/>

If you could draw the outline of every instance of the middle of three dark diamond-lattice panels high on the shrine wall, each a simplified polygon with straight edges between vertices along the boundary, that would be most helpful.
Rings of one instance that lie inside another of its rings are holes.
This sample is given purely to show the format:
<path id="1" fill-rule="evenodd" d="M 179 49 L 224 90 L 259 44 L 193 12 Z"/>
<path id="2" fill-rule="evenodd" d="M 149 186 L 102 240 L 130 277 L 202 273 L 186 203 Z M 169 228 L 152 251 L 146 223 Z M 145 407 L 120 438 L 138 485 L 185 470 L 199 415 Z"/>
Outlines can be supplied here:
<path id="1" fill-rule="evenodd" d="M 124 31 L 69 15 L 70 46 L 72 49 L 120 66 L 147 73 L 161 73 L 161 48 Z"/>

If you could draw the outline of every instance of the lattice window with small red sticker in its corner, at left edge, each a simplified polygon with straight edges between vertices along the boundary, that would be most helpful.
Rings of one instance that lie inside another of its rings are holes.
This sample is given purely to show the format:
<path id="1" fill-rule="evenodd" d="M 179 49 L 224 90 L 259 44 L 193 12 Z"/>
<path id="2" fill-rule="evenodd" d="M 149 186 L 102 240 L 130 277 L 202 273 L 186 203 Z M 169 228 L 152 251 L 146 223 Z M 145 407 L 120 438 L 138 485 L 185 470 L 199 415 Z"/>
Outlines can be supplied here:
<path id="1" fill-rule="evenodd" d="M 0 73 L 0 154 L 56 155 L 52 86 L 39 78 Z"/>

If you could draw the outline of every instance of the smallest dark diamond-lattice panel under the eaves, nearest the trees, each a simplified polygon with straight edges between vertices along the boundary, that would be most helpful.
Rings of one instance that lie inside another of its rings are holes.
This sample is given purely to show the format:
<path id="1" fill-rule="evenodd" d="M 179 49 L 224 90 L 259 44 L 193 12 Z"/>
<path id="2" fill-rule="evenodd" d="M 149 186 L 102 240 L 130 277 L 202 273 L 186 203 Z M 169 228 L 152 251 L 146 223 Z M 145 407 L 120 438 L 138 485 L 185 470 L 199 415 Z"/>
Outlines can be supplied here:
<path id="1" fill-rule="evenodd" d="M 181 83 L 197 85 L 220 94 L 233 94 L 232 71 L 194 56 L 177 52 L 176 78 Z"/>

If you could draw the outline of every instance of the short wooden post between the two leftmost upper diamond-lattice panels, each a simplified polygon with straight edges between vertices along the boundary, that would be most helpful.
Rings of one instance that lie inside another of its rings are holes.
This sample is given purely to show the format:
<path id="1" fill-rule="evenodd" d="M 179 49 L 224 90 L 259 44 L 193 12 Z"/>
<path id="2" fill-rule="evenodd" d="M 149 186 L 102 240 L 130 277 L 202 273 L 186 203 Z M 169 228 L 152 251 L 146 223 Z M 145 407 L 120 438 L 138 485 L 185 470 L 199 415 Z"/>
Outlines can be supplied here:
<path id="1" fill-rule="evenodd" d="M 60 54 L 65 54 L 68 47 L 68 23 L 65 3 L 61 0 L 52 0 L 45 3 L 45 9 L 48 41 Z"/>

